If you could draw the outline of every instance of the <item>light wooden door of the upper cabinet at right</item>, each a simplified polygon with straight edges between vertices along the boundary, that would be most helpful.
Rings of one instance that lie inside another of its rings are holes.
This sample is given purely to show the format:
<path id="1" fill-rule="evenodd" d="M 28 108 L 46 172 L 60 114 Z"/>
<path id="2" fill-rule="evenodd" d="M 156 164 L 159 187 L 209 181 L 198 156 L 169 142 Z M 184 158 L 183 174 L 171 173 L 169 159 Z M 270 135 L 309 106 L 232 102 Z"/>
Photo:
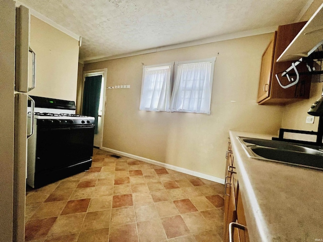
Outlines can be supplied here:
<path id="1" fill-rule="evenodd" d="M 257 102 L 270 95 L 277 31 L 262 54 Z"/>

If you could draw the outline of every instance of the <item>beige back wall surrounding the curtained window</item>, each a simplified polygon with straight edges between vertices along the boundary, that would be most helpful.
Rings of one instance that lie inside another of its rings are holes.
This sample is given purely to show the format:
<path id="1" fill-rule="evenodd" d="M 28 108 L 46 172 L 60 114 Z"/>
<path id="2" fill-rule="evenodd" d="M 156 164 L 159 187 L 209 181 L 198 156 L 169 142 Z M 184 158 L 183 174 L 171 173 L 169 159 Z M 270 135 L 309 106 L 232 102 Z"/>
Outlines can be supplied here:
<path id="1" fill-rule="evenodd" d="M 283 106 L 258 105 L 263 34 L 85 64 L 107 68 L 103 148 L 224 178 L 229 130 L 277 135 Z M 139 110 L 142 65 L 216 56 L 211 114 Z"/>

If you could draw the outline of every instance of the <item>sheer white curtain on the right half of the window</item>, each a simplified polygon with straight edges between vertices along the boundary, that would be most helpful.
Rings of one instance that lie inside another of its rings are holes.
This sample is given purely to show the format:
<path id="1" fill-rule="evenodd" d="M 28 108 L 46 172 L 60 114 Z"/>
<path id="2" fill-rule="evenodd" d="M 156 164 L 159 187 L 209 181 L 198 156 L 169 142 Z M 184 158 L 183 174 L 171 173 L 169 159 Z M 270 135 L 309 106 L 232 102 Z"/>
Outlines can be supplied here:
<path id="1" fill-rule="evenodd" d="M 178 65 L 171 111 L 210 113 L 211 63 Z"/>

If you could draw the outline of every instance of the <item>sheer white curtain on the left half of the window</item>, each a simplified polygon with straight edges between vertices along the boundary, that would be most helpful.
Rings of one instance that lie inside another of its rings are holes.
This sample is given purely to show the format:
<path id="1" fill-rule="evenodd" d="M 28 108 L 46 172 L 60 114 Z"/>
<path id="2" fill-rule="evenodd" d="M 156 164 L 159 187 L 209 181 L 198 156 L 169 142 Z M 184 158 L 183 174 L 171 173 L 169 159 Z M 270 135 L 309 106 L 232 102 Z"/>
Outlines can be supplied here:
<path id="1" fill-rule="evenodd" d="M 169 110 L 171 67 L 144 68 L 143 76 L 139 109 Z"/>

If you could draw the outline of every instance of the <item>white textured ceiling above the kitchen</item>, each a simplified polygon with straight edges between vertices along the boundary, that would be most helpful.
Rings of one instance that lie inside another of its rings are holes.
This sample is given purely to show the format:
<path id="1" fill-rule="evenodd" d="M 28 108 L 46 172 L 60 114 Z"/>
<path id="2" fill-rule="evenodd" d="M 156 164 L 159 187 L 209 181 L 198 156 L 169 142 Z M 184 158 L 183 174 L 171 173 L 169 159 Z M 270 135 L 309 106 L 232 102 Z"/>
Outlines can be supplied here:
<path id="1" fill-rule="evenodd" d="M 94 59 L 292 23 L 309 0 L 20 0 Z"/>

